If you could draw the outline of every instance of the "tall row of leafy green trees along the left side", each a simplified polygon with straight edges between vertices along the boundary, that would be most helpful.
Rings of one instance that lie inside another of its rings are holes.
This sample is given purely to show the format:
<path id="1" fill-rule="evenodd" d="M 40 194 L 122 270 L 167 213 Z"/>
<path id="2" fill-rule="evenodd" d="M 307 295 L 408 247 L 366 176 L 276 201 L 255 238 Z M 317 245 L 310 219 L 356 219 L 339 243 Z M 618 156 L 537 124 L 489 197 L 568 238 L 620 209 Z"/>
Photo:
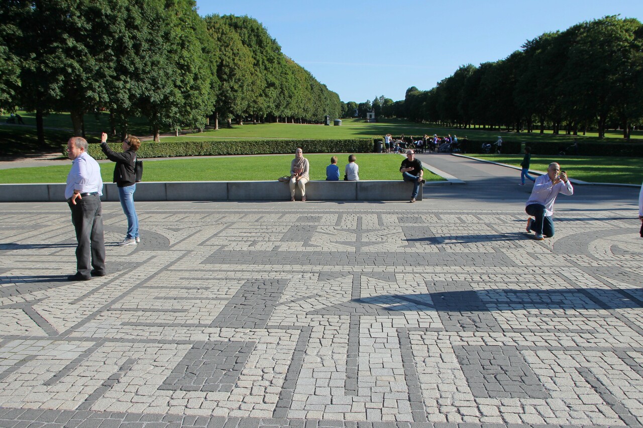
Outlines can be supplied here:
<path id="1" fill-rule="evenodd" d="M 194 0 L 5 0 L 0 8 L 0 107 L 42 118 L 107 109 L 113 134 L 143 116 L 162 128 L 212 118 L 320 122 L 338 94 L 282 53 L 247 16 L 200 17 Z"/>

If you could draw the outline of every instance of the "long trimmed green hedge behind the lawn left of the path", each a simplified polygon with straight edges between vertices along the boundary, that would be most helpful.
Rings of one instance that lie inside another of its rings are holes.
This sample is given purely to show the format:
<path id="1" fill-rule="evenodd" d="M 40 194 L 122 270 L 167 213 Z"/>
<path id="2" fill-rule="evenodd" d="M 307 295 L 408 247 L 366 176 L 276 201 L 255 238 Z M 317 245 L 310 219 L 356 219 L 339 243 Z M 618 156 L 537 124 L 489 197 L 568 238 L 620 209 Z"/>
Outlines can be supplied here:
<path id="1" fill-rule="evenodd" d="M 242 141 L 172 141 L 154 143 L 144 141 L 138 150 L 141 159 L 149 157 L 181 156 L 225 156 L 244 154 L 293 154 L 297 147 L 304 153 L 370 153 L 373 151 L 373 139 L 298 139 L 298 140 L 242 140 Z M 109 143 L 115 152 L 120 152 L 122 143 Z M 94 159 L 107 159 L 100 150 L 100 145 L 90 144 L 87 152 Z M 63 156 L 67 156 L 67 146 L 62 147 Z"/>

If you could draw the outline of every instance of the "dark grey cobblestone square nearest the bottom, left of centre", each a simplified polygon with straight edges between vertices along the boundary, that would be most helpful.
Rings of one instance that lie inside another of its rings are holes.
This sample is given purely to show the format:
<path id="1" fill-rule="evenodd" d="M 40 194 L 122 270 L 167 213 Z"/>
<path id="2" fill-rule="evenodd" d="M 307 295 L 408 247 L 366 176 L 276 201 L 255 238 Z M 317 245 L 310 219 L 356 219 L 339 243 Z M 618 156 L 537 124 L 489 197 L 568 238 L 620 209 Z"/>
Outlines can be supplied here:
<path id="1" fill-rule="evenodd" d="M 195 343 L 159 389 L 229 393 L 254 348 L 251 342 Z"/>

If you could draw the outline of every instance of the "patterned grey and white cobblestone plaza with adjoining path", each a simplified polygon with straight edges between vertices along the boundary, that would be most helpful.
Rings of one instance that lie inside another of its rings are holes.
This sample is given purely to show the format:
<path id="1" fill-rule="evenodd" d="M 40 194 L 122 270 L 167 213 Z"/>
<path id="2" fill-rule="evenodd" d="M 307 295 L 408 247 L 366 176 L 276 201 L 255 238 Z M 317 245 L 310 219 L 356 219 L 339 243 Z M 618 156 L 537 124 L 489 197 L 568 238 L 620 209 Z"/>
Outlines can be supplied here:
<path id="1" fill-rule="evenodd" d="M 638 190 L 576 186 L 525 236 L 514 170 L 402 203 L 0 204 L 0 427 L 640 426 Z"/>

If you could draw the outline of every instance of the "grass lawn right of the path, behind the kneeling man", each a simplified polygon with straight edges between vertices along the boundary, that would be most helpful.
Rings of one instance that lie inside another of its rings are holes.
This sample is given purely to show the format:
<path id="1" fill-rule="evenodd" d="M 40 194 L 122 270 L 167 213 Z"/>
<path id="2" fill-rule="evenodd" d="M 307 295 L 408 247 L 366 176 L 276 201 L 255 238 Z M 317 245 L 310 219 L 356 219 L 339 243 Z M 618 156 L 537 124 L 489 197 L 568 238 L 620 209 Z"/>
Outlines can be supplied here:
<path id="1" fill-rule="evenodd" d="M 523 155 L 470 156 L 514 166 L 520 166 L 523 159 Z M 544 172 L 552 162 L 559 163 L 570 178 L 590 183 L 640 184 L 642 180 L 643 158 L 640 157 L 532 156 L 529 169 Z M 516 174 L 520 176 L 520 172 Z"/>

